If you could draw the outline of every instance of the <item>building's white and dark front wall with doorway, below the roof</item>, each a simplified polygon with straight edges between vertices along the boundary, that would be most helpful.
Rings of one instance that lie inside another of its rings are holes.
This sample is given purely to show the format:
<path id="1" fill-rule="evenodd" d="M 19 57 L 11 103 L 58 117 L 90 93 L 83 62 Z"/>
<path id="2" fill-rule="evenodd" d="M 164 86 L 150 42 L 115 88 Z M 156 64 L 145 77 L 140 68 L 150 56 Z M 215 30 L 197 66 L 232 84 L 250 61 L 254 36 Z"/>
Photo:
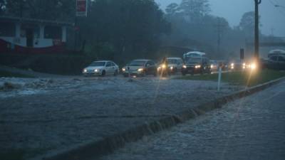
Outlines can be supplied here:
<path id="1" fill-rule="evenodd" d="M 4 25 L 0 26 L 0 52 L 7 50 L 16 52 L 25 50 L 26 52 L 26 50 L 33 51 L 33 49 L 62 51 L 66 45 L 66 26 L 11 22 L 1 22 L 1 24 Z M 29 41 L 32 47 L 27 47 L 28 35 L 30 40 L 33 40 Z"/>

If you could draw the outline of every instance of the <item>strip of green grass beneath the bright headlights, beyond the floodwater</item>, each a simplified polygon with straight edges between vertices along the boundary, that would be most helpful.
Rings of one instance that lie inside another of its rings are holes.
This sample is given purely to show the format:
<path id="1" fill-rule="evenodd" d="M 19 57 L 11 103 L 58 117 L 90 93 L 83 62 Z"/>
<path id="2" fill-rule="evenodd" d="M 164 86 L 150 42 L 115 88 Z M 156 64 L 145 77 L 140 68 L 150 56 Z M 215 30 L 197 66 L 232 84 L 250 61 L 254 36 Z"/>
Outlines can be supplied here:
<path id="1" fill-rule="evenodd" d="M 278 78 L 285 77 L 284 71 L 278 70 L 258 70 L 258 71 L 247 71 L 247 72 L 231 72 L 222 73 L 222 82 L 229 82 L 232 85 L 244 85 L 252 87 L 259 85 L 270 80 L 276 80 Z M 179 78 L 182 80 L 218 80 L 218 74 L 212 75 L 197 75 L 197 76 L 185 76 Z"/>

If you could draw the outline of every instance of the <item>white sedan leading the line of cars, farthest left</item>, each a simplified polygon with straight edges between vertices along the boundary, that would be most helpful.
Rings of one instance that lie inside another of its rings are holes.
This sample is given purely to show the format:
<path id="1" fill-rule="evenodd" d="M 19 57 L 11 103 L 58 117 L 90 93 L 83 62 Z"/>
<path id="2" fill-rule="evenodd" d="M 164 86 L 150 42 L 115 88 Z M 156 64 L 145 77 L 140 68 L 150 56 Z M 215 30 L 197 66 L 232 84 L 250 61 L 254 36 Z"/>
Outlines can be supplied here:
<path id="1" fill-rule="evenodd" d="M 94 61 L 87 68 L 83 69 L 83 75 L 118 75 L 119 67 L 113 61 Z"/>

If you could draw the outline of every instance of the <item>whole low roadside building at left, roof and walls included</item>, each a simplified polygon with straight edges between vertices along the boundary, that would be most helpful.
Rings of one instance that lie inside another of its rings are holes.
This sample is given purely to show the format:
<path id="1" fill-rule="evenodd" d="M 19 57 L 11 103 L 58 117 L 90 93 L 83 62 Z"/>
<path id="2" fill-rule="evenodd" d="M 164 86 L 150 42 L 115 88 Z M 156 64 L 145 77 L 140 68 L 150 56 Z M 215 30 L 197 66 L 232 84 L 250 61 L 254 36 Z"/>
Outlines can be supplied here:
<path id="1" fill-rule="evenodd" d="M 73 23 L 0 16 L 0 53 L 61 53 Z"/>

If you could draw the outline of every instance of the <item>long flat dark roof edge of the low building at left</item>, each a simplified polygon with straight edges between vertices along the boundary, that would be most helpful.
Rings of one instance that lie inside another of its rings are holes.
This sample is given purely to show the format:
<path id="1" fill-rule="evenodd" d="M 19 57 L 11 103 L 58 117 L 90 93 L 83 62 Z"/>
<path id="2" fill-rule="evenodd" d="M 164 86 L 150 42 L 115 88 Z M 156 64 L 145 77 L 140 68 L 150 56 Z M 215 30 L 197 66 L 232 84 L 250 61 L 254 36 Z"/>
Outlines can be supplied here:
<path id="1" fill-rule="evenodd" d="M 70 23 L 70 22 L 51 21 L 51 20 L 35 19 L 35 18 L 20 18 L 20 17 L 14 17 L 14 16 L 0 16 L 0 21 L 45 23 L 45 24 L 53 24 L 53 25 L 59 25 L 59 26 L 74 26 L 74 23 Z"/>

